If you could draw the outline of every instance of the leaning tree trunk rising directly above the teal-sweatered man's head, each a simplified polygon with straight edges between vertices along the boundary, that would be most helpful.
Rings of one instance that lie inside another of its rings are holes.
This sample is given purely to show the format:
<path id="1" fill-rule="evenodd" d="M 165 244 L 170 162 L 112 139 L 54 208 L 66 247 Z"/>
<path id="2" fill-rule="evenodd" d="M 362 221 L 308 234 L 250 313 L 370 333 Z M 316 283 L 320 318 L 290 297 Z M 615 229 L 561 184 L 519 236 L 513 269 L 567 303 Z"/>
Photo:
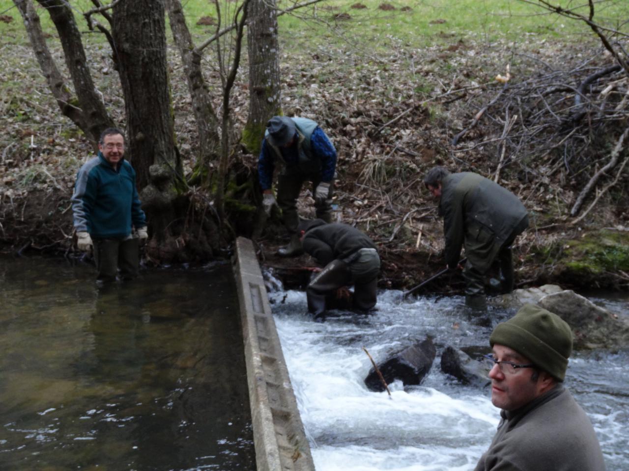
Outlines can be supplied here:
<path id="1" fill-rule="evenodd" d="M 74 21 L 72 9 L 65 0 L 38 0 L 38 3 L 47 9 L 57 28 L 64 48 L 65 63 L 70 70 L 74 90 L 79 98 L 79 107 L 86 119 L 87 138 L 97 143 L 103 129 L 113 126 L 113 121 L 107 114 L 103 100 L 97 94 L 94 82 L 92 82 L 81 41 L 81 32 Z"/>

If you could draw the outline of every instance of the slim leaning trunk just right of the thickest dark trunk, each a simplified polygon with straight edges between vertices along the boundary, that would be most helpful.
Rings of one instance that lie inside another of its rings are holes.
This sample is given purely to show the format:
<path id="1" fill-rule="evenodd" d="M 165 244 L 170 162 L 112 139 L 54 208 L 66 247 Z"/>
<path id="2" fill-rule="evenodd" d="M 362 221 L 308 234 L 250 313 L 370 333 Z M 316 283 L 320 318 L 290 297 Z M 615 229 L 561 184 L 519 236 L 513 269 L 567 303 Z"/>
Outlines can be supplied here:
<path id="1" fill-rule="evenodd" d="M 218 160 L 220 155 L 218 119 L 212 107 L 208 85 L 201 72 L 201 55 L 194 50 L 181 1 L 167 0 L 166 7 L 172 36 L 181 52 L 181 60 L 192 100 L 192 111 L 199 134 L 199 158 L 194 173 L 204 180 L 204 177 L 208 175 L 208 163 Z"/>

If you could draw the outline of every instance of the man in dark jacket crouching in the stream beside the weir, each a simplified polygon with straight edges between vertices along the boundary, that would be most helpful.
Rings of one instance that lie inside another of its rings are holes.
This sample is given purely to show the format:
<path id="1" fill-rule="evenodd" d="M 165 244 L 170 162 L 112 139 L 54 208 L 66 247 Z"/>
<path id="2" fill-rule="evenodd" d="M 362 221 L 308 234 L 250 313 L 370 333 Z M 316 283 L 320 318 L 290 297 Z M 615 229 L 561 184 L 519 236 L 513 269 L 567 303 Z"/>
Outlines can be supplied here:
<path id="1" fill-rule="evenodd" d="M 326 296 L 339 288 L 354 286 L 352 305 L 368 311 L 376 305 L 380 257 L 374 242 L 347 224 L 326 224 L 322 219 L 299 224 L 304 252 L 325 267 L 310 280 L 306 295 L 308 311 L 315 320 L 325 319 Z"/>

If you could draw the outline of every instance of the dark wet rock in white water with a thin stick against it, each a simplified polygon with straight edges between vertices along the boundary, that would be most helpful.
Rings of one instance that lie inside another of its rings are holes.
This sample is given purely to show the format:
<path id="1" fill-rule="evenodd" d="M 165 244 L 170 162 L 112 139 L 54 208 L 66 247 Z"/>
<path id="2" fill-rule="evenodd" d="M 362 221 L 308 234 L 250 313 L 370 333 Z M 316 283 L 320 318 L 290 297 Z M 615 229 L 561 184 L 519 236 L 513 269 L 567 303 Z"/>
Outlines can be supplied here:
<path id="1" fill-rule="evenodd" d="M 384 381 L 390 384 L 396 379 L 401 380 L 404 386 L 420 384 L 426 374 L 430 371 L 437 350 L 430 338 L 426 338 L 419 344 L 412 345 L 407 349 L 392 355 L 378 365 L 378 369 L 384 377 Z M 384 384 L 380 381 L 376 369 L 369 370 L 365 377 L 365 386 L 370 391 L 384 391 Z"/>

